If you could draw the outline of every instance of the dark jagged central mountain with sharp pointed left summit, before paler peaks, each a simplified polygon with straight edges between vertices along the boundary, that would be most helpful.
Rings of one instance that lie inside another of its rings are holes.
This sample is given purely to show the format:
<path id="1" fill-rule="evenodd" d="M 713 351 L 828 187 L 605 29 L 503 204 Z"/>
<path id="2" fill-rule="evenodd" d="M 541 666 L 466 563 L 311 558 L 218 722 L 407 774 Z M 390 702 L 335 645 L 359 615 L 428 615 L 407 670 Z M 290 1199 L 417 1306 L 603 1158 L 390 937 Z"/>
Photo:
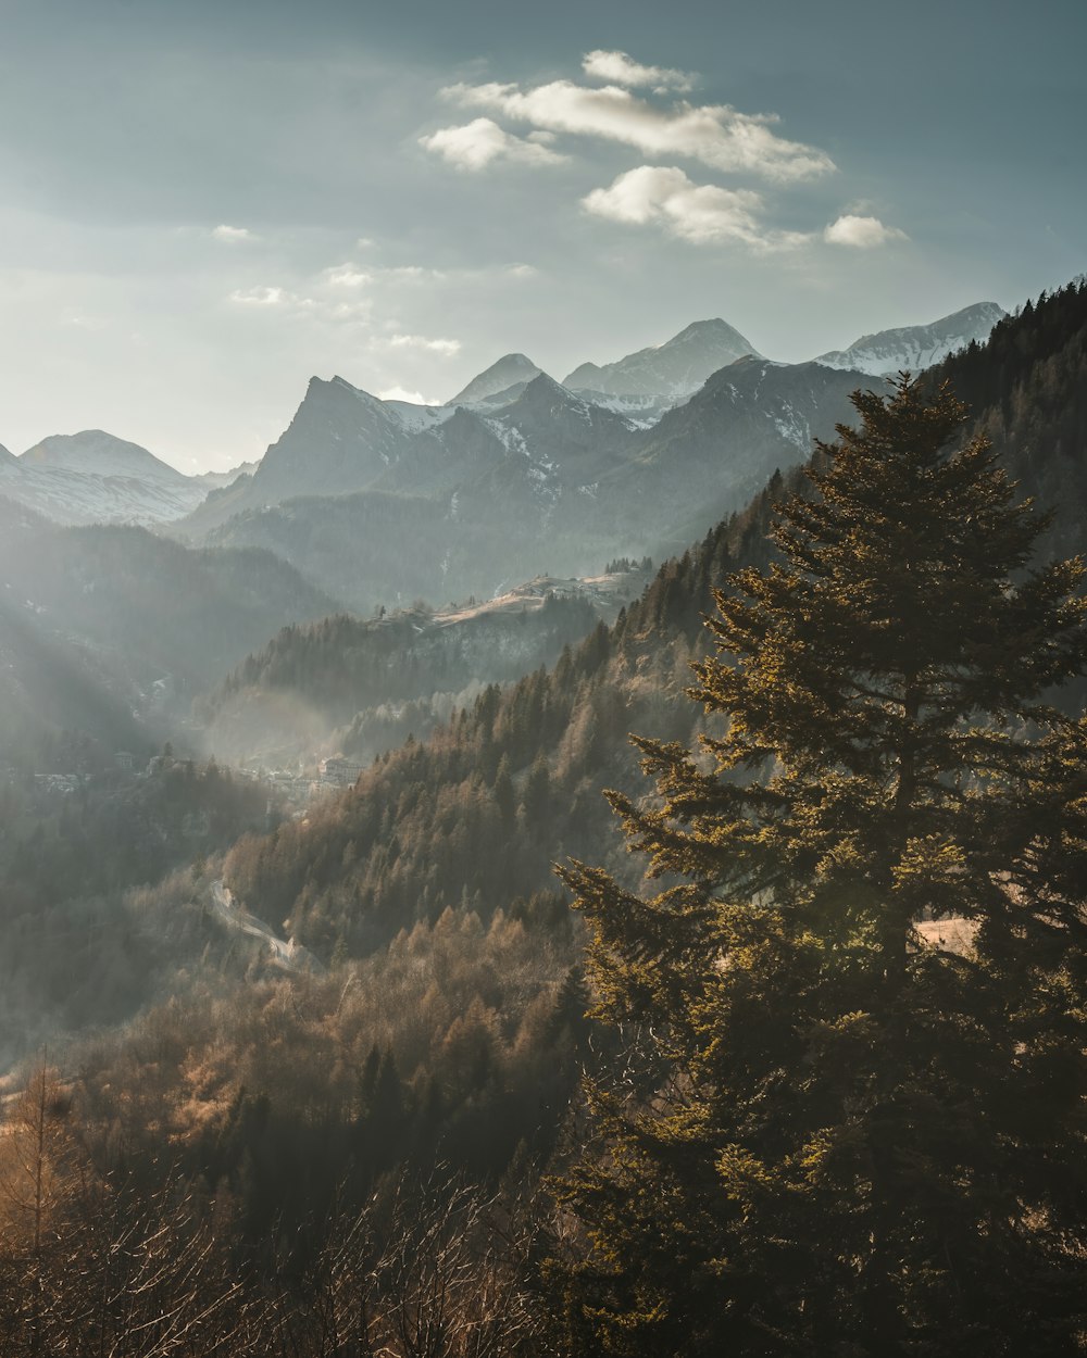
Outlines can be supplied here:
<path id="1" fill-rule="evenodd" d="M 359 612 L 592 574 L 613 557 L 659 557 L 739 508 L 804 458 L 813 433 L 833 435 L 857 382 L 747 357 L 651 428 L 545 373 L 507 405 L 440 411 L 311 383 L 291 437 L 269 449 L 274 483 L 262 464 L 170 531 L 265 547 Z"/>

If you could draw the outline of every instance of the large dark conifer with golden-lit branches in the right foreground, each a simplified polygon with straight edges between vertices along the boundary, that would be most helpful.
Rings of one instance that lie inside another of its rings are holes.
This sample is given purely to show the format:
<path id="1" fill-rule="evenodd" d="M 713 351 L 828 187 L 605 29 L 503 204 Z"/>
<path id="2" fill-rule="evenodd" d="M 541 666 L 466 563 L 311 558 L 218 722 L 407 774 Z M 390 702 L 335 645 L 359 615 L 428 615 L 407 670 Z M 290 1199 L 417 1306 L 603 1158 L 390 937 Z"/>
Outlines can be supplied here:
<path id="1" fill-rule="evenodd" d="M 1083 566 L 1029 569 L 947 390 L 853 403 L 716 596 L 723 733 L 609 794 L 671 884 L 563 873 L 628 1047 L 560 1184 L 579 1355 L 1087 1347 L 1087 732 L 1046 702 Z M 948 917 L 972 945 L 925 942 Z"/>

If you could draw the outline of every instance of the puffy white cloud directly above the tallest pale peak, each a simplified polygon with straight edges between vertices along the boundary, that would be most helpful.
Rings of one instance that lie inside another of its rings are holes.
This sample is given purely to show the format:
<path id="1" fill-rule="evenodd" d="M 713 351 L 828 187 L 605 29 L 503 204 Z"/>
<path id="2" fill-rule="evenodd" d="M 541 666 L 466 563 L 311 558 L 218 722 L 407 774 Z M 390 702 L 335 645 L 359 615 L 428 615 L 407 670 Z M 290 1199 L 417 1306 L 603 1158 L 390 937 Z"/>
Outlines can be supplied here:
<path id="1" fill-rule="evenodd" d="M 762 198 L 751 189 L 694 183 L 677 166 L 639 166 L 607 189 L 582 200 L 587 212 L 630 225 L 662 227 L 693 244 L 739 243 L 753 250 L 788 250 L 811 238 L 799 231 L 769 231 L 760 221 Z"/>

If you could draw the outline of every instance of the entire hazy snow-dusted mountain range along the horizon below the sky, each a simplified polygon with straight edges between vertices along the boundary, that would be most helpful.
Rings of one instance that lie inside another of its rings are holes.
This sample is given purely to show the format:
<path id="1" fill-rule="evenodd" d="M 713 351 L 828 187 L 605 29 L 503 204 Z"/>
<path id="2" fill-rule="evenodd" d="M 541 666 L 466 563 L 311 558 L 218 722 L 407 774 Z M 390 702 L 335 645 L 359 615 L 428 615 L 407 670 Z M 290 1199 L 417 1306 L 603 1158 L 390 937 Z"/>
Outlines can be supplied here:
<path id="1" fill-rule="evenodd" d="M 251 469 L 186 477 L 84 430 L 20 458 L 0 449 L 0 494 L 63 524 L 268 547 L 360 610 L 489 595 L 698 536 L 833 433 L 857 376 L 923 367 L 984 340 L 1001 315 L 981 303 L 807 364 L 764 359 L 709 319 L 563 383 L 505 354 L 440 406 L 314 378 Z"/>

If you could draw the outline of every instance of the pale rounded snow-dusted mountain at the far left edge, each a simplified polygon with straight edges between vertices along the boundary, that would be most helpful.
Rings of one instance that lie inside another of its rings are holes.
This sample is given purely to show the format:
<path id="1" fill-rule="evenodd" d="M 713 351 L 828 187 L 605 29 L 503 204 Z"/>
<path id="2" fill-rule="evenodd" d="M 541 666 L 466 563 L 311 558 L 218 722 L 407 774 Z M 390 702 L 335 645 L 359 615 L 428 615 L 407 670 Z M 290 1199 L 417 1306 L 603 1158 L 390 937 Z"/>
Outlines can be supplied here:
<path id="1" fill-rule="evenodd" d="M 61 524 L 151 524 L 192 512 L 208 486 L 139 444 L 84 429 L 0 456 L 0 494 Z"/>

